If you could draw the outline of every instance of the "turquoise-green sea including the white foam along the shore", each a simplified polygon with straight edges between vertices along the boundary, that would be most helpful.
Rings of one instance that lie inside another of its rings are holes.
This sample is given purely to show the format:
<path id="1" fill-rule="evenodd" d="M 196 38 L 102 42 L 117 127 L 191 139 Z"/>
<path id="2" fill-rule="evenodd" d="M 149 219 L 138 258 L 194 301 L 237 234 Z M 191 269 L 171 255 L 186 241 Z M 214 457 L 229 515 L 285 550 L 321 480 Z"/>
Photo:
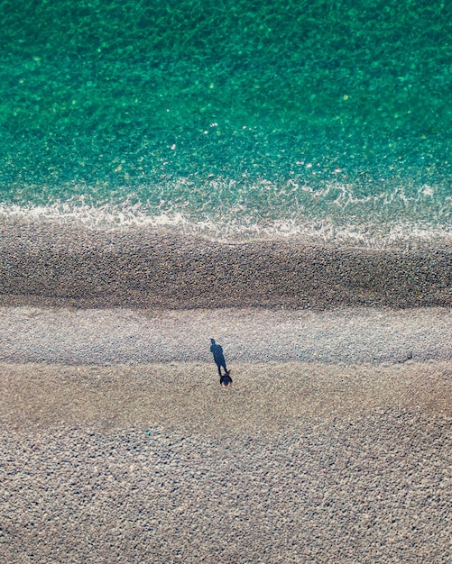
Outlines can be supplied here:
<path id="1" fill-rule="evenodd" d="M 2 213 L 448 237 L 452 4 L 427 4 L 0 0 Z"/>

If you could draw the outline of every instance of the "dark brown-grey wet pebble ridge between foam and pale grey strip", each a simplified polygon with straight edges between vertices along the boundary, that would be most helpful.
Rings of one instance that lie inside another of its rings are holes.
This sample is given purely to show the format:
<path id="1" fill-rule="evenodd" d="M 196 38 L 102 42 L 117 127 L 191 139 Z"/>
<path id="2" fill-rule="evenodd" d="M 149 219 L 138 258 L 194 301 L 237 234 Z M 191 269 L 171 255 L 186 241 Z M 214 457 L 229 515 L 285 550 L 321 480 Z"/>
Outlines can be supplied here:
<path id="1" fill-rule="evenodd" d="M 452 305 L 452 248 L 226 243 L 144 229 L 0 225 L 0 304 L 192 308 Z"/>

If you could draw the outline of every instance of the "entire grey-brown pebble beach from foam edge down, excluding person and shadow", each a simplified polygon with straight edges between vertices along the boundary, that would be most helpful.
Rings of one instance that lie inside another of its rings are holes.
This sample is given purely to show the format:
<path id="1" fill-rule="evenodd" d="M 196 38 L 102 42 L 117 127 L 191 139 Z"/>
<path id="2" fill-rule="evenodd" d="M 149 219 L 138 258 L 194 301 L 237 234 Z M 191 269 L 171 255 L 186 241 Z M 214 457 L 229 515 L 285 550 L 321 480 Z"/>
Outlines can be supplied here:
<path id="1" fill-rule="evenodd" d="M 450 561 L 449 248 L 0 232 L 0 561 Z"/>

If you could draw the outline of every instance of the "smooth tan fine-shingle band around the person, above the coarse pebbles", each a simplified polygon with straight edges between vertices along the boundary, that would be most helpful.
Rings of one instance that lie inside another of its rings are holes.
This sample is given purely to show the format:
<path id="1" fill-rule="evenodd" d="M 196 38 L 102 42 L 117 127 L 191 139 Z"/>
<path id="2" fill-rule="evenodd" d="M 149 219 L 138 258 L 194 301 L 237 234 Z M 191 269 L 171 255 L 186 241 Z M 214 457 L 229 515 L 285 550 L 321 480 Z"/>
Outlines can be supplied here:
<path id="1" fill-rule="evenodd" d="M 164 425 L 199 434 L 300 430 L 361 414 L 452 415 L 451 362 L 325 365 L 235 362 L 234 386 L 213 363 L 62 366 L 0 364 L 0 421 L 16 431 L 79 424 L 102 429 Z M 34 432 L 34 431 L 33 431 Z"/>

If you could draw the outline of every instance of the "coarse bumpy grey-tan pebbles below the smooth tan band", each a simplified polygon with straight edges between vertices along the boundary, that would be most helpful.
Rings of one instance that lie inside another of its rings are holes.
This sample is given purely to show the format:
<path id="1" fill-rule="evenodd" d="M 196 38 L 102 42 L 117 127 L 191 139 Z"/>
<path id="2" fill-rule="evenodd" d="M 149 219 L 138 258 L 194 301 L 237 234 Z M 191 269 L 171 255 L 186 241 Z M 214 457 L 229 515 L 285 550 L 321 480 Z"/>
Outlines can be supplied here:
<path id="1" fill-rule="evenodd" d="M 449 562 L 450 429 L 392 412 L 296 433 L 59 427 L 2 440 L 4 562 Z"/>

